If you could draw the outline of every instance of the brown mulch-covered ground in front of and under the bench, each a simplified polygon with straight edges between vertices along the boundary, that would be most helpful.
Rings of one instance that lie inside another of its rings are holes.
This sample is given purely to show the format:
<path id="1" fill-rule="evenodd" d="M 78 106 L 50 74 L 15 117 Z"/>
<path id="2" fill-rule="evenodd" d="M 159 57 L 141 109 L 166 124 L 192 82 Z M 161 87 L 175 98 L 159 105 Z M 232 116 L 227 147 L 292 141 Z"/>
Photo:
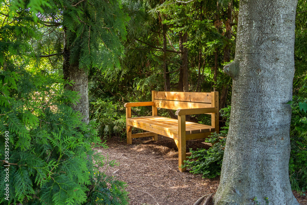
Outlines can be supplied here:
<path id="1" fill-rule="evenodd" d="M 109 160 L 116 160 L 119 166 L 108 167 L 107 175 L 127 183 L 131 205 L 192 205 L 202 195 L 214 193 L 219 178 L 204 179 L 188 171 L 178 170 L 178 149 L 168 137 L 158 136 L 132 140 L 132 145 L 119 138 L 107 141 L 109 148 L 96 148 Z M 209 148 L 204 139 L 188 140 L 190 148 Z M 103 168 L 99 171 L 105 171 Z M 307 197 L 293 192 L 301 205 L 307 205 Z"/>

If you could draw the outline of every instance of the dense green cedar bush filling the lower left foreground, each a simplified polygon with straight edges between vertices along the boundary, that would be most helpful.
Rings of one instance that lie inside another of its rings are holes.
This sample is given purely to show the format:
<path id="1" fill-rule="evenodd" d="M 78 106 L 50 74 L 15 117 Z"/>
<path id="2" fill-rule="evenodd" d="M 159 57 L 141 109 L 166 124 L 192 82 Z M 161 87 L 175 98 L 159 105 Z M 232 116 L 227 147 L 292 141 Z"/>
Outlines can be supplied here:
<path id="1" fill-rule="evenodd" d="M 113 166 L 92 151 L 103 146 L 85 124 L 57 73 L 39 75 L 9 63 L 0 71 L 1 204 L 128 204 L 125 184 L 98 167 Z M 6 134 L 6 135 L 5 135 Z M 6 155 L 7 154 L 7 155 Z M 92 157 L 96 166 L 93 166 Z M 5 161 L 8 160 L 9 164 Z M 98 173 L 98 172 L 97 172 Z M 8 200 L 7 200 L 8 199 Z"/>

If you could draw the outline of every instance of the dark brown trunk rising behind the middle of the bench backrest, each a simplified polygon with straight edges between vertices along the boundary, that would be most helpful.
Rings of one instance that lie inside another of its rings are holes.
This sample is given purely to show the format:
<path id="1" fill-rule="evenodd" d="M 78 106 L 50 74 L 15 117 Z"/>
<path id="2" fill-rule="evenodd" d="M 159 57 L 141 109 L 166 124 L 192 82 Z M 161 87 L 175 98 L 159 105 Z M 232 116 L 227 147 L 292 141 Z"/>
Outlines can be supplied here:
<path id="1" fill-rule="evenodd" d="M 182 34 L 179 32 L 179 51 L 183 52 L 181 55 L 182 66 L 179 72 L 179 84 L 178 88 L 180 92 L 189 92 L 188 83 L 188 49 L 183 43 L 188 42 L 188 33 Z"/>

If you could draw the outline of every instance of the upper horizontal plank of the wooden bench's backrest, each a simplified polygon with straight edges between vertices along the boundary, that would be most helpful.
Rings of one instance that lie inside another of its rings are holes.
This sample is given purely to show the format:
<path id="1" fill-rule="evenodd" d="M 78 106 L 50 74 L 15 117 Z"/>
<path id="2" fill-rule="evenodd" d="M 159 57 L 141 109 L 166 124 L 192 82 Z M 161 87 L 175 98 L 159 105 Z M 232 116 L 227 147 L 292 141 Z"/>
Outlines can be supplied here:
<path id="1" fill-rule="evenodd" d="M 154 99 L 211 103 L 211 93 L 155 92 Z"/>

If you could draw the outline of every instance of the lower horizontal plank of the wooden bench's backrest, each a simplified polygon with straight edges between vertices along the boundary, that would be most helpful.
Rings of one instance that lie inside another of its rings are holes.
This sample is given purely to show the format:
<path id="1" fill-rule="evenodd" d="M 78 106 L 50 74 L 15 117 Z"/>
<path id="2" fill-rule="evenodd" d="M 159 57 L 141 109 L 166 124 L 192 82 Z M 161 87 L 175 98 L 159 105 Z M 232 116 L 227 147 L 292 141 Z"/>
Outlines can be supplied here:
<path id="1" fill-rule="evenodd" d="M 165 108 L 165 109 L 172 109 L 172 110 L 211 107 L 211 104 L 208 104 L 208 103 L 166 101 L 166 100 L 159 100 L 159 99 L 154 99 L 154 105 L 157 108 Z"/>

